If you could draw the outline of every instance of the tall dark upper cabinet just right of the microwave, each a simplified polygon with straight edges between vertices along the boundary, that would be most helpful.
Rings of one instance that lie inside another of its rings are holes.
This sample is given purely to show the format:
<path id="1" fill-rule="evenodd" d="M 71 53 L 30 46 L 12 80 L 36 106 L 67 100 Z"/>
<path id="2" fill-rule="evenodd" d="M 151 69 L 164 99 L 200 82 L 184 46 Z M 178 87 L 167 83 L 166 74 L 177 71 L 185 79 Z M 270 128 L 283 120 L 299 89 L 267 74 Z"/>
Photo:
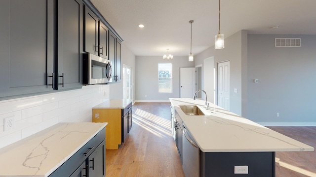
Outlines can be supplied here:
<path id="1" fill-rule="evenodd" d="M 112 63 L 112 82 L 121 80 L 121 41 L 110 31 L 109 35 L 109 59 Z"/>

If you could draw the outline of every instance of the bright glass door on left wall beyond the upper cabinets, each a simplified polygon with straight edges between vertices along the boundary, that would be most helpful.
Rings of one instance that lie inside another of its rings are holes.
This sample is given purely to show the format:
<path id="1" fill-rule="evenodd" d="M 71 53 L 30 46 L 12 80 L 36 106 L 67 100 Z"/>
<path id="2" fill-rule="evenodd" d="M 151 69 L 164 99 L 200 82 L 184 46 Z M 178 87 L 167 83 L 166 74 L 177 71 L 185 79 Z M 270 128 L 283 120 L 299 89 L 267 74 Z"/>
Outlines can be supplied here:
<path id="1" fill-rule="evenodd" d="M 132 93 L 132 68 L 123 65 L 123 99 L 133 99 Z"/>

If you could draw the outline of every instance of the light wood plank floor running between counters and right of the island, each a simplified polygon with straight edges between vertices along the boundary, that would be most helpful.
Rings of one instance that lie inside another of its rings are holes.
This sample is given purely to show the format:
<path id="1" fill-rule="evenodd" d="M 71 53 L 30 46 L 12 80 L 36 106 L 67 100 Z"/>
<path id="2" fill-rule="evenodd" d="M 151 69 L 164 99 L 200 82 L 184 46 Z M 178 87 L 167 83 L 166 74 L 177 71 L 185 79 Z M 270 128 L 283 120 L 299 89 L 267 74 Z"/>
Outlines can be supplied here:
<path id="1" fill-rule="evenodd" d="M 184 177 L 171 134 L 170 103 L 137 102 L 132 118 L 126 143 L 106 150 L 106 176 Z M 316 127 L 269 128 L 316 147 Z M 276 161 L 276 177 L 316 177 L 316 151 L 276 152 Z"/>

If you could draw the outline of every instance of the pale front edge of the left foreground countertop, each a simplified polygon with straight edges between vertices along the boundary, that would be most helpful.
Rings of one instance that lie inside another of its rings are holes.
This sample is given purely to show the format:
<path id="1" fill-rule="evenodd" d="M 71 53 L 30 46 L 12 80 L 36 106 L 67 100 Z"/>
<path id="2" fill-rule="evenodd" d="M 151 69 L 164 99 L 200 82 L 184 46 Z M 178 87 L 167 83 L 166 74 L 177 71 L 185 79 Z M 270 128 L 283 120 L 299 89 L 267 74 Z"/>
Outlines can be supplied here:
<path id="1" fill-rule="evenodd" d="M 108 125 L 108 122 L 104 122 L 104 125 L 99 128 L 93 135 L 90 136 L 89 139 L 86 139 L 85 142 L 83 142 L 78 148 L 76 148 L 73 152 L 71 152 L 67 157 L 65 157 L 62 161 L 60 161 L 55 167 L 53 167 L 51 170 L 49 170 L 44 176 L 42 175 L 36 175 L 36 176 L 30 176 L 30 177 L 48 177 L 51 175 L 55 170 L 57 170 L 61 165 L 63 165 L 70 157 L 72 157 L 80 148 L 82 148 L 85 144 L 87 144 L 95 135 L 97 135 L 105 126 Z M 1 177 L 1 176 L 0 176 Z M 28 177 L 28 176 L 23 176 Z"/>

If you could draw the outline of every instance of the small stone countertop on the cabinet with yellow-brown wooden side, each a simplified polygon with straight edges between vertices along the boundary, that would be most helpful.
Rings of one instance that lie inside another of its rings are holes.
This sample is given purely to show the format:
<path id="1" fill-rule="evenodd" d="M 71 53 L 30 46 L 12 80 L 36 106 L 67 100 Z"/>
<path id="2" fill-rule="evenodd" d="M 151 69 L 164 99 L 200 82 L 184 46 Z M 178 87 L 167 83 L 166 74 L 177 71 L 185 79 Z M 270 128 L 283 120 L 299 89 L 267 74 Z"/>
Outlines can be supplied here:
<path id="1" fill-rule="evenodd" d="M 94 106 L 92 109 L 124 109 L 132 101 L 132 99 L 109 99 Z"/>

